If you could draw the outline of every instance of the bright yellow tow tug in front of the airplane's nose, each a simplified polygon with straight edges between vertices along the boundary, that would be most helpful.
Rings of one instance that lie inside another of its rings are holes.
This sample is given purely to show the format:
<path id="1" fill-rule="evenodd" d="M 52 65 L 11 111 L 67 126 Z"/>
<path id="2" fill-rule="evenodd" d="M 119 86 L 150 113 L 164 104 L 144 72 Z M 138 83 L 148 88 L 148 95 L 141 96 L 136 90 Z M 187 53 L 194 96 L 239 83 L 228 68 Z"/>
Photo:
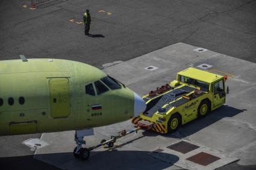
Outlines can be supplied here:
<path id="1" fill-rule="evenodd" d="M 205 117 L 225 103 L 229 91 L 228 87 L 225 91 L 226 79 L 192 67 L 180 71 L 176 80 L 143 96 L 146 110 L 132 122 L 143 127 L 141 122 L 149 121 L 156 132 L 175 132 L 182 124 Z"/>

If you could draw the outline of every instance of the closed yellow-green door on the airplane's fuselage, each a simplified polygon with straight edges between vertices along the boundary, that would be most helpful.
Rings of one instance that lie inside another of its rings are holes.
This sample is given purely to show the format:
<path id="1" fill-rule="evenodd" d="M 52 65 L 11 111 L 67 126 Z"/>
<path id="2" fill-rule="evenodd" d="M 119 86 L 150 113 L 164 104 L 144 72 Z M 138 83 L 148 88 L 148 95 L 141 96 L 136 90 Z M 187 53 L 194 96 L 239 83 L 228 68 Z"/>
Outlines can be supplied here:
<path id="1" fill-rule="evenodd" d="M 49 80 L 51 117 L 64 118 L 70 115 L 69 80 L 54 78 Z"/>

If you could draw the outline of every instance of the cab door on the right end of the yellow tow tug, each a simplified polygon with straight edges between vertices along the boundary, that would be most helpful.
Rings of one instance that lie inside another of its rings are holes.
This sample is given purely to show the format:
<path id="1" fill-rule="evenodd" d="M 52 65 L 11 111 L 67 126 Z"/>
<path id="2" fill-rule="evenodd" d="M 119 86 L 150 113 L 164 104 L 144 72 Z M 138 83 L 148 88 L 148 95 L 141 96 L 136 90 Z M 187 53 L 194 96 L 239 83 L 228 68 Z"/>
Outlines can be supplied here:
<path id="1" fill-rule="evenodd" d="M 225 87 L 223 80 L 213 83 L 213 109 L 225 102 Z"/>

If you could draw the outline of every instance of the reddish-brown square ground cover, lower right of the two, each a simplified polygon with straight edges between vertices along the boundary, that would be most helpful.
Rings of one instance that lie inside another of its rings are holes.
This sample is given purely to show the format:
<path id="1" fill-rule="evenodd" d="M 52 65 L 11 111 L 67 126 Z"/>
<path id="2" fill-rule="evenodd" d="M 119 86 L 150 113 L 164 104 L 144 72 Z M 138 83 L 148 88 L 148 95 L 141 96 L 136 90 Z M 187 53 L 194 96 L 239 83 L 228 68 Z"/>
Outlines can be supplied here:
<path id="1" fill-rule="evenodd" d="M 199 165 L 207 166 L 210 163 L 215 162 L 216 160 L 219 160 L 220 157 L 213 156 L 212 154 L 208 153 L 198 153 L 192 157 L 187 158 L 187 160 L 190 160 L 191 162 L 198 163 Z"/>

